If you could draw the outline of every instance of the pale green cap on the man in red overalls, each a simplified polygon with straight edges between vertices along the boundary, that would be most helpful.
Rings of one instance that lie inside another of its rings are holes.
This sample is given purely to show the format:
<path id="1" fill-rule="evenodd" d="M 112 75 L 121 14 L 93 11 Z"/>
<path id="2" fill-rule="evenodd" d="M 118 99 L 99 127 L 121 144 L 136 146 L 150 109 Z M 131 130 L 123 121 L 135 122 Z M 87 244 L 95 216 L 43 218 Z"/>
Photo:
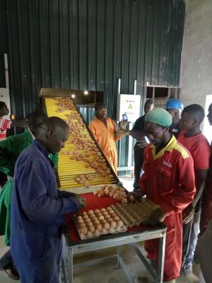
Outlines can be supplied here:
<path id="1" fill-rule="evenodd" d="M 152 122 L 163 127 L 172 125 L 172 115 L 163 108 L 155 108 L 145 115 L 145 122 Z"/>

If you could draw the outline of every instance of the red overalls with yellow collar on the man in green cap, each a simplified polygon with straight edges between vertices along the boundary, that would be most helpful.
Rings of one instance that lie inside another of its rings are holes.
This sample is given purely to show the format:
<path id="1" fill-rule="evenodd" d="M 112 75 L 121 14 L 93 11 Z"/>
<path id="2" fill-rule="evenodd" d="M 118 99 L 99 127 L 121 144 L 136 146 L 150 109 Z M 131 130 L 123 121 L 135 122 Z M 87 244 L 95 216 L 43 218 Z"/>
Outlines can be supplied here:
<path id="1" fill-rule="evenodd" d="M 149 144 L 144 152 L 144 174 L 140 188 L 149 200 L 160 205 L 165 212 L 167 226 L 165 242 L 164 280 L 179 276 L 182 259 L 182 210 L 190 204 L 196 192 L 194 163 L 189 151 L 175 139 L 155 154 Z M 148 258 L 158 262 L 158 239 L 146 241 Z"/>

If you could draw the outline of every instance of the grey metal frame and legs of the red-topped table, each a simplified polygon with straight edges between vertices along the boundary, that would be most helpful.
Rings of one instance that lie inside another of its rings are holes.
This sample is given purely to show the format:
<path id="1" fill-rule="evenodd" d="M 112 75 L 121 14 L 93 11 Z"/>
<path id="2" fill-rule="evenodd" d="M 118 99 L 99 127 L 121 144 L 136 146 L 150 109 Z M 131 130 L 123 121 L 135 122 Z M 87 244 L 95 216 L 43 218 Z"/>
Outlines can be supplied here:
<path id="1" fill-rule="evenodd" d="M 117 259 L 117 266 L 122 267 L 126 277 L 128 278 L 128 282 L 133 283 L 134 278 L 131 276 L 129 270 L 127 269 L 124 260 L 120 254 L 120 246 L 125 244 L 130 244 L 131 248 L 135 251 L 135 253 L 139 256 L 143 265 L 145 265 L 148 272 L 150 272 L 153 277 L 155 283 L 163 282 L 163 264 L 164 264 L 164 256 L 165 256 L 165 235 L 166 235 L 166 227 L 153 227 L 151 229 L 144 230 L 142 226 L 138 227 L 136 231 L 126 231 L 124 233 L 118 234 L 108 234 L 105 236 L 100 236 L 98 238 L 91 238 L 89 240 L 83 241 L 71 241 L 69 237 L 69 231 L 67 227 L 64 228 L 64 242 L 65 246 L 68 249 L 68 254 L 66 257 L 62 258 L 62 270 L 64 272 L 64 280 L 66 283 L 73 282 L 73 267 L 83 267 L 88 265 L 94 265 L 105 260 Z M 136 246 L 136 243 L 146 240 L 151 240 L 154 238 L 159 238 L 160 246 L 158 251 L 158 270 L 155 270 L 149 263 L 148 260 L 142 255 L 141 250 Z M 79 253 L 91 252 L 94 250 L 100 250 L 103 248 L 112 248 L 117 247 L 117 255 L 112 255 L 107 258 L 100 258 L 98 260 L 90 260 L 86 262 L 82 262 L 78 265 L 73 265 L 73 255 Z"/>

